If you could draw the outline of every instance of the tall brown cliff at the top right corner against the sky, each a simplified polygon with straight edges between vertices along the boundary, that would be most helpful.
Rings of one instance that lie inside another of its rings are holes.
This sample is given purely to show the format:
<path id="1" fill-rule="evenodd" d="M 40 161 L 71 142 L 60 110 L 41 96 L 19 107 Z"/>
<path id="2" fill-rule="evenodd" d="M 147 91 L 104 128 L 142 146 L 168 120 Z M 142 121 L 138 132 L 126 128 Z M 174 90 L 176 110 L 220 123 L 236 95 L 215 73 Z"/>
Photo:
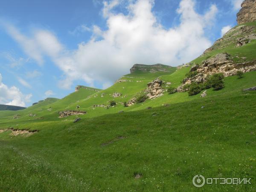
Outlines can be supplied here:
<path id="1" fill-rule="evenodd" d="M 256 0 L 245 0 L 237 16 L 237 23 L 248 23 L 256 20 Z"/>

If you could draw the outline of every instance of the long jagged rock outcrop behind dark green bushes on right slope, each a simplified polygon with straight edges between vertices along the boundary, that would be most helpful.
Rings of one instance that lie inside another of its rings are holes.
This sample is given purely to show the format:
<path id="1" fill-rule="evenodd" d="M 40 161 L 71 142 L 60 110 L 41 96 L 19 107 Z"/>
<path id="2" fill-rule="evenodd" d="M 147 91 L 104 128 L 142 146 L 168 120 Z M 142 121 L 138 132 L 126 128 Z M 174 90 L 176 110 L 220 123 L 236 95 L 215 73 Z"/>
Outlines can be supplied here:
<path id="1" fill-rule="evenodd" d="M 256 61 L 248 61 L 244 63 L 234 63 L 230 59 L 230 55 L 227 53 L 220 53 L 213 58 L 209 58 L 204 61 L 195 70 L 195 67 L 191 68 L 191 72 L 197 72 L 194 77 L 183 79 L 183 84 L 177 88 L 178 92 L 185 91 L 183 86 L 185 84 L 191 84 L 192 82 L 203 83 L 206 81 L 207 76 L 215 73 L 223 73 L 225 77 L 236 75 L 237 71 L 243 73 L 255 71 Z"/>

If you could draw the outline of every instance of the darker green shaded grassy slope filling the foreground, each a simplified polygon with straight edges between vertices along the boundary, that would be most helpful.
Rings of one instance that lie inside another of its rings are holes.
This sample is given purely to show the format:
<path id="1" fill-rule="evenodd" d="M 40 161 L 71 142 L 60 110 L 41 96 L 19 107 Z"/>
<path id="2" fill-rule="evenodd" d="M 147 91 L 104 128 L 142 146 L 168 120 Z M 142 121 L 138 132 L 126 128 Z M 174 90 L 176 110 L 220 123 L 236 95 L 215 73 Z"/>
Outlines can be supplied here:
<path id="1" fill-rule="evenodd" d="M 255 75 L 228 77 L 223 90 L 209 90 L 206 98 L 190 102 L 76 124 L 64 119 L 45 122 L 28 138 L 0 134 L 0 173 L 6 175 L 0 177 L 0 189 L 195 191 L 195 174 L 253 177 L 256 116 L 255 106 L 248 103 L 256 102 L 256 93 L 243 93 L 241 88 L 255 83 Z M 169 95 L 170 102 L 174 95 Z M 119 140 L 120 136 L 125 138 Z M 135 179 L 137 172 L 143 177 Z M 208 185 L 202 191 L 231 189 L 253 191 L 255 182 Z"/>

